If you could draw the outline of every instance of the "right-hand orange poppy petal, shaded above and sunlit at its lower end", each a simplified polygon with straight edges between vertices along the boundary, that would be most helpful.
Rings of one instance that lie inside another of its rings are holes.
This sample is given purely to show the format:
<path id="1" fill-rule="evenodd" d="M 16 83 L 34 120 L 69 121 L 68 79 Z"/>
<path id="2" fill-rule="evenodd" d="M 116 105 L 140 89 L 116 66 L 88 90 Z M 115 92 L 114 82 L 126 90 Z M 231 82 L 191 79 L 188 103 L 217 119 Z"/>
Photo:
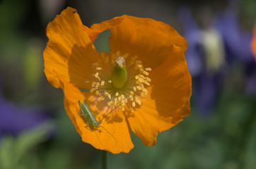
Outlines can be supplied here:
<path id="1" fill-rule="evenodd" d="M 156 144 L 158 132 L 177 125 L 190 114 L 191 77 L 182 49 L 173 46 L 170 57 L 150 73 L 152 86 L 134 116 L 128 118 L 132 131 L 144 145 Z"/>

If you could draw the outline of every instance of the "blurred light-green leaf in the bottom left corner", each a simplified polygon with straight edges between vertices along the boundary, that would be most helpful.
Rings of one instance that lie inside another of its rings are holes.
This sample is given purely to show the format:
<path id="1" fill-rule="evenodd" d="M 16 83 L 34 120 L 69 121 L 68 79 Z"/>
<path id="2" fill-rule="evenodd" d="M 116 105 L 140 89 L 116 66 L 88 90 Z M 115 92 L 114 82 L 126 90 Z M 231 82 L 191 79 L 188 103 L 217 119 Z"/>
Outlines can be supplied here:
<path id="1" fill-rule="evenodd" d="M 37 127 L 31 131 L 22 132 L 16 138 L 11 136 L 2 138 L 0 146 L 0 168 L 38 168 L 39 159 L 37 154 L 35 154 L 35 150 L 36 146 L 45 142 L 46 133 L 47 130 L 45 130 L 45 127 Z"/>

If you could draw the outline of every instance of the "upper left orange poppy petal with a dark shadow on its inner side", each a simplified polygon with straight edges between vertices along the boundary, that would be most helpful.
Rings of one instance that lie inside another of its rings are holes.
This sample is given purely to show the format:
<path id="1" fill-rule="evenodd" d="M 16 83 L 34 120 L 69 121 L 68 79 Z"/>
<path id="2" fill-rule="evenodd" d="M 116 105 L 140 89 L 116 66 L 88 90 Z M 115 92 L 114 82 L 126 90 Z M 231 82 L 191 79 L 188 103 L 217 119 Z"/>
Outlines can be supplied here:
<path id="1" fill-rule="evenodd" d="M 91 63 L 101 59 L 91 39 L 83 30 L 81 19 L 74 8 L 66 8 L 47 25 L 49 42 L 44 51 L 45 75 L 54 86 L 60 87 L 54 69 L 64 80 L 79 88 L 91 88 L 85 81 L 91 80 Z"/>

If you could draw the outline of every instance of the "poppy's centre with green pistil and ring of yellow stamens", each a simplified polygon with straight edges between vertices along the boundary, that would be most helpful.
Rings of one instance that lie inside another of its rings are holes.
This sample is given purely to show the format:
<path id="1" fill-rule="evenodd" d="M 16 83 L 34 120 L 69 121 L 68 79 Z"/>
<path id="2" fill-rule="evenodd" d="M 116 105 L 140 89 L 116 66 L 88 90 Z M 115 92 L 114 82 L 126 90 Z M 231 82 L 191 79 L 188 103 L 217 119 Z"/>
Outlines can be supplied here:
<path id="1" fill-rule="evenodd" d="M 146 87 L 150 86 L 151 68 L 144 68 L 142 62 L 136 60 L 137 56 L 129 58 L 129 54 L 121 55 L 120 51 L 112 56 L 103 52 L 101 56 L 105 66 L 93 63 L 95 81 L 91 83 L 91 92 L 98 96 L 98 101 L 107 101 L 108 106 L 122 104 L 122 111 L 128 108 L 133 112 L 136 105 L 141 106 L 140 98 L 148 94 Z"/>

